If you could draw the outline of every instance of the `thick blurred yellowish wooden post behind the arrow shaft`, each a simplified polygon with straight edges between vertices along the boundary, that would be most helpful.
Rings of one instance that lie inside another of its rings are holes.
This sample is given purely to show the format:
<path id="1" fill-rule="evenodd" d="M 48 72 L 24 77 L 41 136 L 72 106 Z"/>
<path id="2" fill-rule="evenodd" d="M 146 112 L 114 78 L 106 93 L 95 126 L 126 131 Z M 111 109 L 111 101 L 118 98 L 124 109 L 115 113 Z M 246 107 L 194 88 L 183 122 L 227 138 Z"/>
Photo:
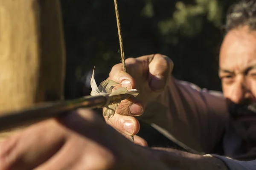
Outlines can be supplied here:
<path id="1" fill-rule="evenodd" d="M 64 72 L 59 0 L 0 0 L 0 114 L 63 99 Z"/>

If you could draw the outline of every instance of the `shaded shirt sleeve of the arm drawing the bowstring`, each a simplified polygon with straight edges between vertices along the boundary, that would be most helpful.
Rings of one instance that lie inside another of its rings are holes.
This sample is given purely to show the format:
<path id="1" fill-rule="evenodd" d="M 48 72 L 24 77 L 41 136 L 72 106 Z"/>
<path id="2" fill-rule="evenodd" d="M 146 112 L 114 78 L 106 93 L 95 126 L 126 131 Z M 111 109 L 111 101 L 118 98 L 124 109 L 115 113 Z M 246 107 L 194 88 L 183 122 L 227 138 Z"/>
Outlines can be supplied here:
<path id="1" fill-rule="evenodd" d="M 139 119 L 202 154 L 212 153 L 220 142 L 228 114 L 221 92 L 207 91 L 172 77 L 168 88 L 145 108 Z"/>

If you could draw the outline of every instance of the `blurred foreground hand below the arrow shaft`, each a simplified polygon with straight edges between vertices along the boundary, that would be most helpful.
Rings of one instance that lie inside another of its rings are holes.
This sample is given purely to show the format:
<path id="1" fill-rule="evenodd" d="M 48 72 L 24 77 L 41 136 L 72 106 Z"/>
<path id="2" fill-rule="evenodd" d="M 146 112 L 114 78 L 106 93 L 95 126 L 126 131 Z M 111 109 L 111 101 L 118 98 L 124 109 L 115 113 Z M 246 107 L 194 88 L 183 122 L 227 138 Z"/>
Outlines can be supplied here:
<path id="1" fill-rule="evenodd" d="M 150 161 L 151 160 L 151 161 Z M 166 169 L 93 111 L 80 109 L 0 142 L 0 170 Z"/>

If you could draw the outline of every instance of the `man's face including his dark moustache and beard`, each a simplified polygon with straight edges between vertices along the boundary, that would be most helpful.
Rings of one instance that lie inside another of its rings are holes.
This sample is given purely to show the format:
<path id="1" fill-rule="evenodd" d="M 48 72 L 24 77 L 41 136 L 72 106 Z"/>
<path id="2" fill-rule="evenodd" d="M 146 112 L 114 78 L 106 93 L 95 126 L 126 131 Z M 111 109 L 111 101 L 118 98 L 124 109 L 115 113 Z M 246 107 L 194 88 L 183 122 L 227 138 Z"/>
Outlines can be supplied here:
<path id="1" fill-rule="evenodd" d="M 226 35 L 221 45 L 219 77 L 233 125 L 243 139 L 255 145 L 256 30 L 244 26 Z"/>

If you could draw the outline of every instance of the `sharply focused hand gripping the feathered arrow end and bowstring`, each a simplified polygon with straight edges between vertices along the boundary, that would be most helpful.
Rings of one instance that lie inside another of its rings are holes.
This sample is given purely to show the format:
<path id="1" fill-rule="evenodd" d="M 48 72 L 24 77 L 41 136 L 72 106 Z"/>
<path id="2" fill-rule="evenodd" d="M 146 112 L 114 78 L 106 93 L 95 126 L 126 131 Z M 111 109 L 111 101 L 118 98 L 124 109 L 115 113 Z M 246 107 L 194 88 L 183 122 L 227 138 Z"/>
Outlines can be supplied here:
<path id="1" fill-rule="evenodd" d="M 153 54 L 125 60 L 126 71 L 122 71 L 122 63 L 114 65 L 108 79 L 121 83 L 128 89 L 136 88 L 139 95 L 120 103 L 113 117 L 106 122 L 121 132 L 124 136 L 136 135 L 140 124 L 134 116 L 143 114 L 148 102 L 159 96 L 167 86 L 173 69 L 173 62 L 161 54 Z M 118 88 L 118 87 L 117 87 Z M 134 142 L 147 145 L 144 139 L 134 136 Z"/>

